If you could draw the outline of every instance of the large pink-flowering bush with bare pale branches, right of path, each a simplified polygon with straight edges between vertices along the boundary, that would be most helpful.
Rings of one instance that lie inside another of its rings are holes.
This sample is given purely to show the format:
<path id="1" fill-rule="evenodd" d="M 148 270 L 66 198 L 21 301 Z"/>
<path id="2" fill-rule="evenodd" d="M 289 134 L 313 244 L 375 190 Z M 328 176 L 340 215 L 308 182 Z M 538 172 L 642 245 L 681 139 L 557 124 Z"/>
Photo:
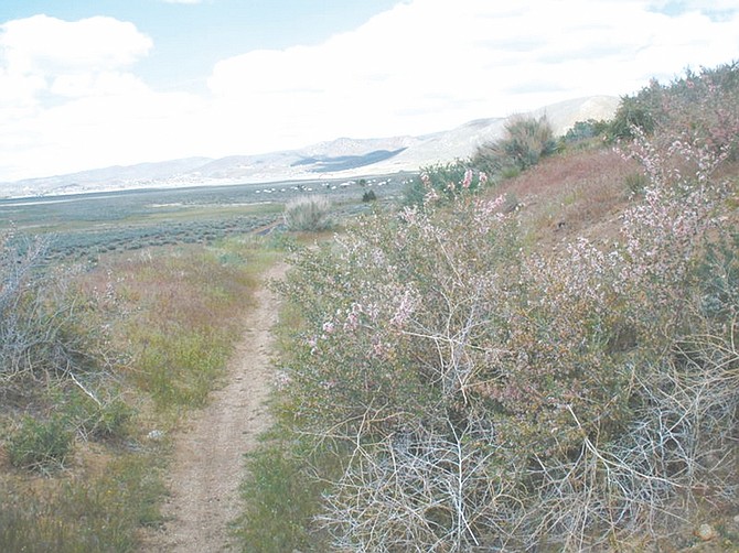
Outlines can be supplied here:
<path id="1" fill-rule="evenodd" d="M 503 197 L 429 185 L 296 258 L 283 408 L 341 459 L 320 475 L 336 547 L 581 550 L 657 534 L 678 494 L 736 501 L 726 156 L 634 135 L 621 240 L 528 252 Z"/>

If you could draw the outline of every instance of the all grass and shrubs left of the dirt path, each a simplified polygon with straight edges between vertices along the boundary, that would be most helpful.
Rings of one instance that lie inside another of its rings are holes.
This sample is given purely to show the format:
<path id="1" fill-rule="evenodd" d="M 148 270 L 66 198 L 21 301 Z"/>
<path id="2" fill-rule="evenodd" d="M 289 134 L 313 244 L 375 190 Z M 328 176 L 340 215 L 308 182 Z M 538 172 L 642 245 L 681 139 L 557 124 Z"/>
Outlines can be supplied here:
<path id="1" fill-rule="evenodd" d="M 50 264 L 2 240 L 0 550 L 136 551 L 162 523 L 171 434 L 218 386 L 265 240 Z"/>

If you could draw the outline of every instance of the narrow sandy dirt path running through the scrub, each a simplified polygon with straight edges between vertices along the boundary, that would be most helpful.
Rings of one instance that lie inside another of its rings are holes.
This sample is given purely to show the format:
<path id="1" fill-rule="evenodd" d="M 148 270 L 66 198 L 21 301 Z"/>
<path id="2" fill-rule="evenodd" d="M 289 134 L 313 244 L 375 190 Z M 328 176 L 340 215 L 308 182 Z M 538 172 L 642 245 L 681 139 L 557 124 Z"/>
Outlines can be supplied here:
<path id="1" fill-rule="evenodd" d="M 278 263 L 264 274 L 256 305 L 246 314 L 244 337 L 232 357 L 226 386 L 213 392 L 208 406 L 195 413 L 175 437 L 167 477 L 171 496 L 162 508 L 168 522 L 163 531 L 144 540 L 142 551 L 235 551 L 227 524 L 240 512 L 243 456 L 270 424 L 265 401 L 271 386 L 270 330 L 278 310 L 266 282 L 281 279 L 286 271 L 287 265 Z"/>

